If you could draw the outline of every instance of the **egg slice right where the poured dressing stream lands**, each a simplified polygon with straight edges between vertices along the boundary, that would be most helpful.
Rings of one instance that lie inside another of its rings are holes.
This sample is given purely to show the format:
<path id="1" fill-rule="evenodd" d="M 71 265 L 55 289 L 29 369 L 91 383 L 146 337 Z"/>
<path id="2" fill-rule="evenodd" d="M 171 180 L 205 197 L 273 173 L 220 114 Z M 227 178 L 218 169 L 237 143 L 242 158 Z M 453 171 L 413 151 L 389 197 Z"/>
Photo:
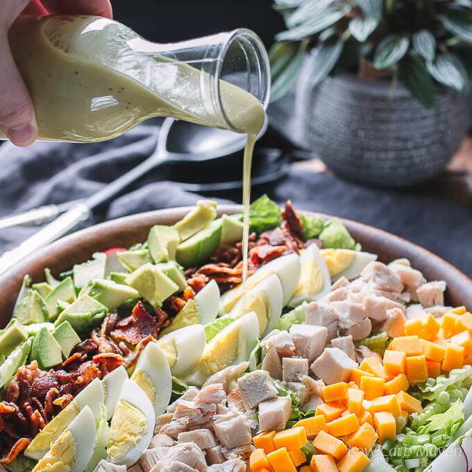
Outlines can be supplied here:
<path id="1" fill-rule="evenodd" d="M 240 317 L 248 312 L 258 315 L 259 335 L 264 335 L 276 326 L 283 309 L 283 289 L 278 276 L 264 278 L 250 289 L 230 311 L 230 316 Z"/>

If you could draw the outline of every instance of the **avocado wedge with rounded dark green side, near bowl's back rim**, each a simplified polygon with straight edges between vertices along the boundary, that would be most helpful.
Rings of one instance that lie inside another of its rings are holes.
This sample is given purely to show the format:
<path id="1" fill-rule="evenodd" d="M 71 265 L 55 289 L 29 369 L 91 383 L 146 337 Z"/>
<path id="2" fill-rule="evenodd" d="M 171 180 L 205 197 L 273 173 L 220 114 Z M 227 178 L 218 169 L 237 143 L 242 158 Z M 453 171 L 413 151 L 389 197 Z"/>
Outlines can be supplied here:
<path id="1" fill-rule="evenodd" d="M 217 250 L 221 240 L 221 220 L 210 225 L 177 246 L 176 260 L 183 267 L 194 267 Z"/>

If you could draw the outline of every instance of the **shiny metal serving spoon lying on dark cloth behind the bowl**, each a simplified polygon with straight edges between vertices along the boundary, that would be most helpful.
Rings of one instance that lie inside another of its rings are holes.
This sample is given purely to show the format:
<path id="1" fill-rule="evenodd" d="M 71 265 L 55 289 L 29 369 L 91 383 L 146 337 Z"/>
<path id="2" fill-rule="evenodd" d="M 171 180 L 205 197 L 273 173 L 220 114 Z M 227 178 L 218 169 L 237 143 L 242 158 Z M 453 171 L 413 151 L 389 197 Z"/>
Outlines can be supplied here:
<path id="1" fill-rule="evenodd" d="M 267 124 L 264 125 L 264 128 L 260 131 L 259 137 L 266 129 Z M 159 131 L 158 144 L 149 158 L 126 172 L 126 174 L 113 180 L 103 187 L 103 189 L 99 190 L 99 192 L 81 201 L 67 203 L 66 205 L 69 206 L 64 214 L 47 226 L 44 226 L 44 228 L 41 228 L 31 237 L 28 237 L 28 239 L 25 239 L 24 242 L 19 244 L 16 248 L 6 251 L 0 256 L 0 273 L 3 273 L 38 248 L 46 246 L 65 235 L 82 221 L 86 221 L 92 214 L 94 208 L 101 205 L 101 203 L 109 201 L 112 197 L 128 187 L 128 185 L 135 182 L 135 180 L 165 162 L 182 162 L 188 160 L 203 161 L 221 158 L 221 156 L 243 149 L 245 142 L 245 135 L 237 135 L 237 133 L 228 130 L 208 128 L 198 124 L 187 123 L 186 121 L 176 121 L 172 118 L 166 118 Z M 194 146 L 193 149 L 192 146 Z M 59 205 L 57 212 L 55 209 L 51 212 L 51 205 L 47 205 L 46 212 L 49 221 L 51 221 L 51 214 L 53 214 L 53 212 L 56 212 L 56 216 L 60 214 L 61 206 L 65 210 L 65 205 Z M 31 210 L 31 212 L 34 213 L 37 212 L 37 210 Z M 31 214 L 31 212 L 27 213 Z M 16 216 L 16 221 L 19 221 L 19 216 L 21 215 Z M 37 213 L 33 214 L 33 216 L 33 221 L 37 221 Z M 25 224 L 24 221 L 21 224 Z M 3 228 L 4 227 L 3 223 Z M 1 221 L 0 228 L 2 228 Z"/>

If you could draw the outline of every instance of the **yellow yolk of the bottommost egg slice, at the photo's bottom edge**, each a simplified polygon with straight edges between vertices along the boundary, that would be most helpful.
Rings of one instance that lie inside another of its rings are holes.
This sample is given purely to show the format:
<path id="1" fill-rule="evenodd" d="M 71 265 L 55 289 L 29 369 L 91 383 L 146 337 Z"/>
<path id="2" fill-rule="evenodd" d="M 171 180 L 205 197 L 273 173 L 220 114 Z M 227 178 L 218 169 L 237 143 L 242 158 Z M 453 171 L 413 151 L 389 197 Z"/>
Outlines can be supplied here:
<path id="1" fill-rule="evenodd" d="M 65 430 L 32 472 L 70 472 L 76 458 L 76 439 L 69 430 Z"/>

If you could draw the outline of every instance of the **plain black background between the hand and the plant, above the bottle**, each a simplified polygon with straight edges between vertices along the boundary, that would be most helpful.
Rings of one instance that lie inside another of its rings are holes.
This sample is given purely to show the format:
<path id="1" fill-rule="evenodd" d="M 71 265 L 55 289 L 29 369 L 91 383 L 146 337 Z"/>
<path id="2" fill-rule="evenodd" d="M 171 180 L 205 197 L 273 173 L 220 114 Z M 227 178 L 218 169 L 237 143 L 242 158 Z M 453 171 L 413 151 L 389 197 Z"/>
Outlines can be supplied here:
<path id="1" fill-rule="evenodd" d="M 155 42 L 250 28 L 269 47 L 273 35 L 284 29 L 282 17 L 271 8 L 271 0 L 111 0 L 111 3 L 115 19 Z"/>

